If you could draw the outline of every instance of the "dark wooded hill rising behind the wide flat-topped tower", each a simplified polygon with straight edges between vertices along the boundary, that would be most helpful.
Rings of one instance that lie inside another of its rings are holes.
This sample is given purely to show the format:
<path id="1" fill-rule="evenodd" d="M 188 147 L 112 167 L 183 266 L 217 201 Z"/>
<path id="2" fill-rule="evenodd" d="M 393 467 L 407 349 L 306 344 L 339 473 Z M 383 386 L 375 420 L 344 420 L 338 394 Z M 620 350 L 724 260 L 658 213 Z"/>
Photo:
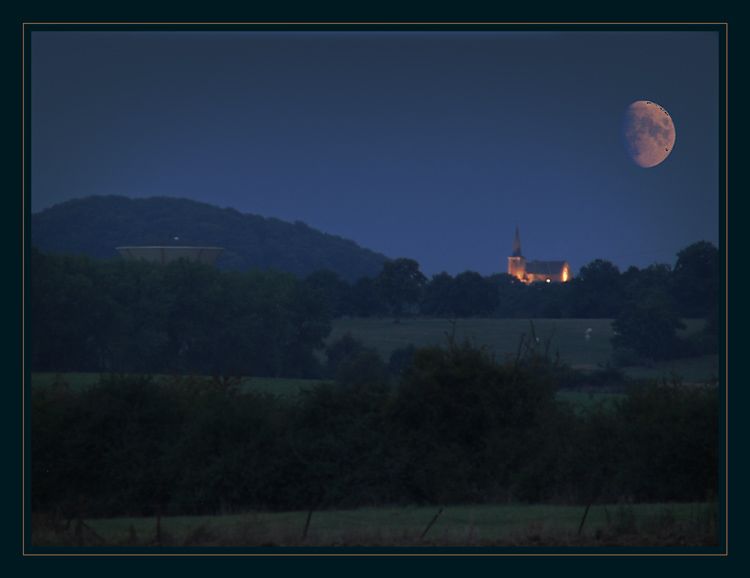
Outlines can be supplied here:
<path id="1" fill-rule="evenodd" d="M 122 245 L 224 247 L 221 269 L 276 269 L 306 277 L 332 269 L 355 281 L 380 272 L 386 256 L 301 221 L 243 214 L 232 208 L 173 197 L 90 196 L 31 215 L 31 242 L 43 252 L 85 253 L 98 259 Z"/>

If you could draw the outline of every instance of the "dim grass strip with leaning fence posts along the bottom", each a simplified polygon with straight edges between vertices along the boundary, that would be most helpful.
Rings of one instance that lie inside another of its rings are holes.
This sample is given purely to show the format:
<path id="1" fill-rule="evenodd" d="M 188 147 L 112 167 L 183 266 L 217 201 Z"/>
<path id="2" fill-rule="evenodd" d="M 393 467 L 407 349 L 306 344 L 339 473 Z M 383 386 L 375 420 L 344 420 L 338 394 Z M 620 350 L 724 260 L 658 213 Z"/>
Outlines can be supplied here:
<path id="1" fill-rule="evenodd" d="M 715 546 L 716 504 L 477 505 L 32 521 L 35 546 Z M 439 515 L 438 515 L 439 514 Z M 437 516 L 437 517 L 436 517 Z M 431 522 L 434 523 L 430 525 Z M 75 525 L 73 521 L 71 526 Z M 429 526 L 429 529 L 428 529 Z"/>

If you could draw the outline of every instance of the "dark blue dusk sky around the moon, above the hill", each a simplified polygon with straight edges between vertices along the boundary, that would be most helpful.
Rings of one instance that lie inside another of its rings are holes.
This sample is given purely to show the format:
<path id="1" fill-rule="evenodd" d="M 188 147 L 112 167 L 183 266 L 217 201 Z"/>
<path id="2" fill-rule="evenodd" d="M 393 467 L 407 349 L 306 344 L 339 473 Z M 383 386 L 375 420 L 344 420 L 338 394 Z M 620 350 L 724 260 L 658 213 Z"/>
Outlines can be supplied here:
<path id="1" fill-rule="evenodd" d="M 716 32 L 105 32 L 31 39 L 31 209 L 167 195 L 301 220 L 428 276 L 719 243 Z M 672 116 L 626 155 L 626 107 Z M 183 234 L 189 236 L 189 231 Z"/>

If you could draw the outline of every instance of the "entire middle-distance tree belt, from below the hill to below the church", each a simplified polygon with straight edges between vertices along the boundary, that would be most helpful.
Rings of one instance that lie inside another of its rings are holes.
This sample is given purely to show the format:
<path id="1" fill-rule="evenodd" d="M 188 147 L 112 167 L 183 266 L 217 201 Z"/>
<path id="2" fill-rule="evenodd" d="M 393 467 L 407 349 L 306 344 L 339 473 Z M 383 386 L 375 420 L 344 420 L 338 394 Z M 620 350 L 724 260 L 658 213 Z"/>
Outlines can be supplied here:
<path id="1" fill-rule="evenodd" d="M 621 365 L 718 352 L 719 253 L 701 241 L 620 273 L 597 259 L 567 283 L 525 285 L 466 271 L 428 279 L 413 259 L 383 263 L 351 283 L 318 269 L 167 265 L 31 250 L 30 351 L 34 371 L 241 372 L 324 376 L 322 350 L 340 317 L 612 318 Z M 704 318 L 689 340 L 683 318 Z"/>

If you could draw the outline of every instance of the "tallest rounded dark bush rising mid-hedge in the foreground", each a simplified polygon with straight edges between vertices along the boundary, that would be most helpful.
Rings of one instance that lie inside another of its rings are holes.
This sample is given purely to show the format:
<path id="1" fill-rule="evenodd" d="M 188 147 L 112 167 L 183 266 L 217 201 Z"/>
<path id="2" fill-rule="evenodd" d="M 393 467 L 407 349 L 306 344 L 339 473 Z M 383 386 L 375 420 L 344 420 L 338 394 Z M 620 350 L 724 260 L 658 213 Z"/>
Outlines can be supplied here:
<path id="1" fill-rule="evenodd" d="M 500 364 L 468 342 L 417 350 L 391 405 L 411 498 L 499 495 L 543 453 L 539 432 L 553 405 L 554 382 L 537 358 Z"/>

